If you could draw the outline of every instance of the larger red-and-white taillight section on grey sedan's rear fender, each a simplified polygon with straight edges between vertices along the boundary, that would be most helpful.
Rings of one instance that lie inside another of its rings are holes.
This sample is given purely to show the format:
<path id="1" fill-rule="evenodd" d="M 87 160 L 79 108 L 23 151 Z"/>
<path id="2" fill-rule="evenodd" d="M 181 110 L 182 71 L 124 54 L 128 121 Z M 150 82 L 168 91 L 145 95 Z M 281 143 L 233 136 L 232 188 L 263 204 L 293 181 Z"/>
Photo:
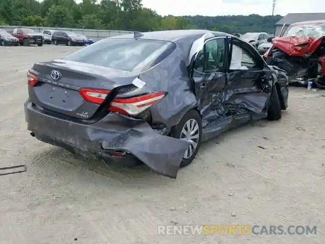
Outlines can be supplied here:
<path id="1" fill-rule="evenodd" d="M 109 107 L 112 112 L 119 112 L 128 115 L 138 115 L 150 106 L 158 103 L 166 93 L 158 92 L 142 95 L 134 98 L 115 98 Z"/>

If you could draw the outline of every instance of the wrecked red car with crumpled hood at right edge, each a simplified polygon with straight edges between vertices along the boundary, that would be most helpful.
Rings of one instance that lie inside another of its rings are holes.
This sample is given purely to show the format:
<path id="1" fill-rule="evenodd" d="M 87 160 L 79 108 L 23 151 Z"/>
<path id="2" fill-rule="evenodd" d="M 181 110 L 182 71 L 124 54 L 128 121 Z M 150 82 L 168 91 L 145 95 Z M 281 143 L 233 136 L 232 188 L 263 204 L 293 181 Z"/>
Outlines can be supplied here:
<path id="1" fill-rule="evenodd" d="M 268 65 L 277 66 L 289 76 L 290 83 L 325 88 L 325 20 L 291 24 L 264 54 Z"/>

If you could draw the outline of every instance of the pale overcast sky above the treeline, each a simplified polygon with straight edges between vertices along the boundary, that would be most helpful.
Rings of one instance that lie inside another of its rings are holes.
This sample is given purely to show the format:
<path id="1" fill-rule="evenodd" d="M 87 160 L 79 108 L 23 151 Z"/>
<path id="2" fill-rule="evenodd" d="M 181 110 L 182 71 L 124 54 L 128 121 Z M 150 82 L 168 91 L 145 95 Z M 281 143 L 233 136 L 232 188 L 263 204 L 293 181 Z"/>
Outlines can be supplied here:
<path id="1" fill-rule="evenodd" d="M 272 15 L 273 0 L 142 0 L 160 15 Z M 276 0 L 274 14 L 325 12 L 325 0 Z"/>

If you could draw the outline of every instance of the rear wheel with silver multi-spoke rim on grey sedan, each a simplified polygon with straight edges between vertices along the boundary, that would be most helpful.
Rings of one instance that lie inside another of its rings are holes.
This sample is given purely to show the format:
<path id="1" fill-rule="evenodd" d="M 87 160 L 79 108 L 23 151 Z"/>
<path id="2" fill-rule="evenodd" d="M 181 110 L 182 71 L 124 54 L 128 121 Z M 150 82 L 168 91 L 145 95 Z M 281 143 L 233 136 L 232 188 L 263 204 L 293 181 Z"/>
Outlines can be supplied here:
<path id="1" fill-rule="evenodd" d="M 184 156 L 183 156 L 183 159 L 182 159 L 182 162 L 180 165 L 181 168 L 189 165 L 193 161 L 193 159 L 197 155 L 199 147 L 201 145 L 202 121 L 201 121 L 201 116 L 198 113 L 198 111 L 193 109 L 193 110 L 190 110 L 188 113 L 186 113 L 184 115 L 184 117 L 181 119 L 181 121 L 179 122 L 179 124 L 172 128 L 171 136 L 174 138 L 178 138 L 178 139 L 183 138 L 185 135 L 183 132 L 187 131 L 186 128 L 193 129 L 193 130 L 188 130 L 189 132 L 192 132 L 191 141 L 193 143 L 191 145 L 189 145 L 189 148 L 184 153 Z M 195 130 L 194 128 L 196 128 L 197 130 Z M 185 140 L 185 138 L 184 138 L 184 140 Z M 195 144 L 196 144 L 196 146 L 194 147 Z M 191 151 L 191 154 L 186 155 L 186 153 L 190 153 L 190 151 Z"/>

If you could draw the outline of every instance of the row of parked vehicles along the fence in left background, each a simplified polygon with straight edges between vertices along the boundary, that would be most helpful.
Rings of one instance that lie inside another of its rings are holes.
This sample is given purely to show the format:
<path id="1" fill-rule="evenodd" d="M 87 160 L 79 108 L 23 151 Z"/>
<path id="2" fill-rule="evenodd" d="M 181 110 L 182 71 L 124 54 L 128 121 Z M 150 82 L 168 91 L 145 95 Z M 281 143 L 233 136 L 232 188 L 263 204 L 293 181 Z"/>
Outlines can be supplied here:
<path id="1" fill-rule="evenodd" d="M 44 29 L 42 33 L 37 33 L 29 28 L 15 28 L 12 32 L 7 32 L 0 29 L 0 45 L 1 46 L 22 46 L 37 45 L 39 47 L 43 44 L 65 44 L 68 46 L 84 46 L 94 43 L 90 38 L 82 34 L 74 32 L 55 31 L 52 29 Z"/>

